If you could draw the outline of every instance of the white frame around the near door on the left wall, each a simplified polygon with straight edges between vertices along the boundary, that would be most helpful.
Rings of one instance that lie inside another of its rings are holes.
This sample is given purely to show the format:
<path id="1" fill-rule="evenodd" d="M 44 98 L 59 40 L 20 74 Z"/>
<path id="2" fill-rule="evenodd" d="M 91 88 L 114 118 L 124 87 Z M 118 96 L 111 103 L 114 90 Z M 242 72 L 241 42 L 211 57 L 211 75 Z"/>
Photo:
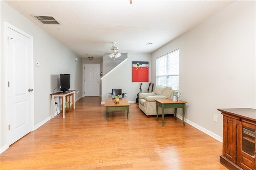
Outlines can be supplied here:
<path id="1" fill-rule="evenodd" d="M 22 34 L 23 36 L 26 36 L 28 38 L 30 38 L 30 40 L 32 41 L 32 54 L 33 54 L 33 37 L 30 36 L 29 34 L 23 32 L 22 30 L 16 28 L 15 26 L 12 26 L 11 24 L 9 24 L 8 22 L 4 22 L 4 65 L 5 65 L 5 68 L 4 68 L 4 98 L 5 98 L 5 108 L 4 108 L 4 114 L 5 115 L 5 148 L 9 148 L 8 146 L 8 122 L 9 122 L 9 117 L 8 117 L 8 95 L 7 95 L 7 88 L 8 88 L 8 77 L 7 77 L 7 67 L 8 67 L 8 63 L 7 63 L 7 39 L 8 39 L 8 36 L 7 36 L 7 30 L 8 28 L 18 32 L 19 34 Z M 29 63 L 28 64 L 31 64 L 32 65 L 32 68 L 31 68 L 31 87 L 34 89 L 34 57 L 32 56 L 32 61 L 28 61 Z M 33 93 L 34 94 L 34 93 Z M 34 130 L 34 95 L 32 94 L 32 97 L 31 97 L 31 131 Z M 1 136 L 3 137 L 3 136 Z M 2 150 L 1 150 L 2 151 Z"/>

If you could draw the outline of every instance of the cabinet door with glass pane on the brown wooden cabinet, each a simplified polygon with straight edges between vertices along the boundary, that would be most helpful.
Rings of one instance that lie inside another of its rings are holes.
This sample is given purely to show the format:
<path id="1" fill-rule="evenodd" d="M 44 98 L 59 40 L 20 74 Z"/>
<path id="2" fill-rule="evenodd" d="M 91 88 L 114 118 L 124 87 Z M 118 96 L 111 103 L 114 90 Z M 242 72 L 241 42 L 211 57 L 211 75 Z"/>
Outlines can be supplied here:
<path id="1" fill-rule="evenodd" d="M 237 165 L 244 170 L 254 170 L 256 125 L 238 121 Z"/>

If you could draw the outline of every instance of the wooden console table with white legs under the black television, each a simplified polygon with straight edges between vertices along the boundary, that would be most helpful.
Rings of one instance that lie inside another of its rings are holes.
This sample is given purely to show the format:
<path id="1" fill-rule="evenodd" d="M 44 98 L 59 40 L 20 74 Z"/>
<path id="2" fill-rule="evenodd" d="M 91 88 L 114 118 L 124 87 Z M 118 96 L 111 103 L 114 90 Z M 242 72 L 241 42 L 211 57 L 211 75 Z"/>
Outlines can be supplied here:
<path id="1" fill-rule="evenodd" d="M 75 102 L 74 102 L 74 99 L 75 99 L 75 91 L 76 90 L 70 90 L 70 91 L 67 91 L 67 92 L 57 92 L 57 93 L 52 93 L 51 96 L 52 96 L 52 119 L 54 119 L 54 109 L 55 109 L 55 100 L 54 100 L 54 97 L 62 97 L 62 116 L 63 118 L 65 118 L 65 105 L 66 105 L 66 96 L 69 97 L 69 103 L 70 103 L 70 95 L 72 95 L 72 104 L 73 104 L 73 109 L 76 109 L 75 108 Z M 70 104 L 69 104 L 69 109 L 70 109 Z"/>

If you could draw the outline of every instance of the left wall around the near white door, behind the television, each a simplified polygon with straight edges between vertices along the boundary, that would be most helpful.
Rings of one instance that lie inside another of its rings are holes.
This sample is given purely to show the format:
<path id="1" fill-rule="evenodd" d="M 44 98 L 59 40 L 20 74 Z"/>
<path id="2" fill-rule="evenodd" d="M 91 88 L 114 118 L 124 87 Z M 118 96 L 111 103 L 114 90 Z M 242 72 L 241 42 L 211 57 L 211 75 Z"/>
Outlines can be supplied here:
<path id="1" fill-rule="evenodd" d="M 51 117 L 50 93 L 58 85 L 60 73 L 71 74 L 71 89 L 82 92 L 82 59 L 61 43 L 46 34 L 22 14 L 8 6 L 4 1 L 1 3 L 1 139 L 0 149 L 4 151 L 6 146 L 6 59 L 4 54 L 4 21 L 33 36 L 34 62 L 39 61 L 40 67 L 34 66 L 34 128 L 39 127 Z M 54 27 L 54 26 L 53 26 Z M 75 61 L 75 58 L 78 61 Z M 56 92 L 56 91 L 55 91 Z M 76 94 L 76 99 L 82 93 Z"/>

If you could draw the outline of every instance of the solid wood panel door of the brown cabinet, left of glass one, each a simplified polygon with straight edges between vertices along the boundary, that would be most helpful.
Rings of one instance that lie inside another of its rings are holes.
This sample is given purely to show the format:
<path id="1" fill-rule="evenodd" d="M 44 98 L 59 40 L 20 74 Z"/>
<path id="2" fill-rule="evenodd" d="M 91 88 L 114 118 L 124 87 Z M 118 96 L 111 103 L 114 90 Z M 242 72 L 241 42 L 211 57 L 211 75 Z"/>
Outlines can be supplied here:
<path id="1" fill-rule="evenodd" d="M 222 154 L 236 164 L 236 125 L 237 119 L 223 115 Z"/>

